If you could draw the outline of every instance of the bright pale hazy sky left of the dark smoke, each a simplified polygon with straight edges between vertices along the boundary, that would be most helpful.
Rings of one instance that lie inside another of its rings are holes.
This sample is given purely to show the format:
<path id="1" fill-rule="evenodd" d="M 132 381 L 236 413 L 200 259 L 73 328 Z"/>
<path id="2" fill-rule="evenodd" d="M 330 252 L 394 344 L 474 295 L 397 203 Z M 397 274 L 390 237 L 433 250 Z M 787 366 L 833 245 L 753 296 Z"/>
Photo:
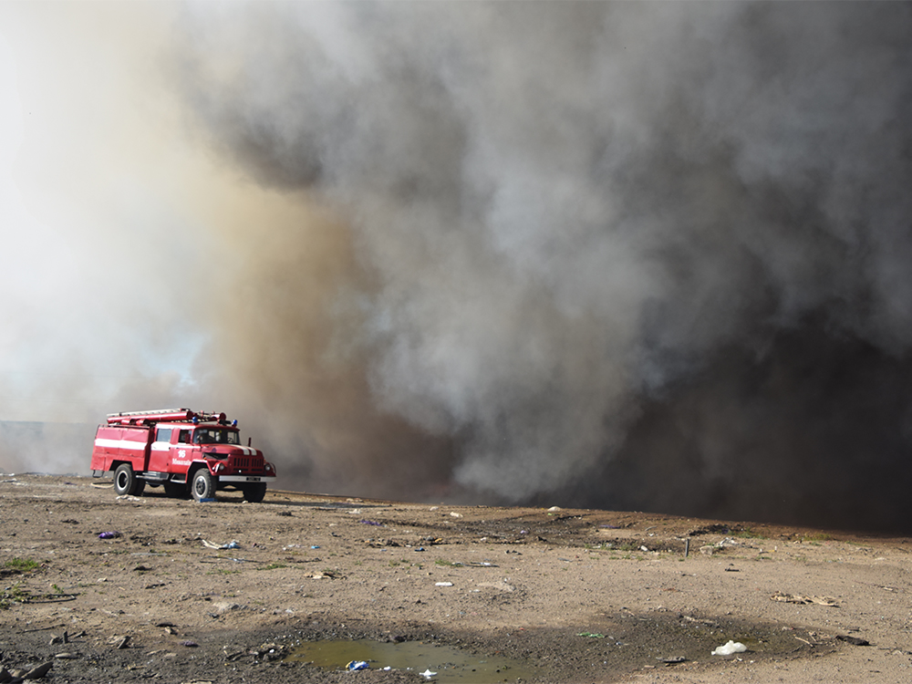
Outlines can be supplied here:
<path id="1" fill-rule="evenodd" d="M 257 191 L 168 86 L 180 11 L 0 3 L 0 420 L 96 422 L 131 382 L 145 407 L 180 399 L 147 379 L 193 379 L 210 269 L 235 265 L 220 233 Z"/>

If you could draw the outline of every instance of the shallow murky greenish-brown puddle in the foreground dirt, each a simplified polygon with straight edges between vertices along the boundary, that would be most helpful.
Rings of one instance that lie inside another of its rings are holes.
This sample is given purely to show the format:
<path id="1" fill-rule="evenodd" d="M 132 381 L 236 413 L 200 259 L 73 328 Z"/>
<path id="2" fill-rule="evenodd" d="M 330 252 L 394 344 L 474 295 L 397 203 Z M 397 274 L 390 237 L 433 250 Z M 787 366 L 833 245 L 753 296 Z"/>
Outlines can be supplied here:
<path id="1" fill-rule="evenodd" d="M 352 660 L 365 660 L 370 669 L 407 669 L 418 674 L 434 672 L 429 681 L 491 684 L 531 679 L 534 671 L 509 658 L 473 656 L 459 648 L 435 646 L 420 641 L 384 643 L 373 639 L 357 641 L 313 641 L 295 648 L 289 660 L 311 663 L 319 668 L 345 668 Z"/>

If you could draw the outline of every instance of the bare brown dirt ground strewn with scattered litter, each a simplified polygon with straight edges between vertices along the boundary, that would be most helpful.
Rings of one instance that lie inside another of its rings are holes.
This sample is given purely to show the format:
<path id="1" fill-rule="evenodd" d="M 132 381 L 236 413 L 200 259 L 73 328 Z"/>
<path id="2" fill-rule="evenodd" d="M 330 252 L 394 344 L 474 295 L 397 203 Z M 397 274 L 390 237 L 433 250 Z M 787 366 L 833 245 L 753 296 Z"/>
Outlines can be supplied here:
<path id="1" fill-rule="evenodd" d="M 118 498 L 106 481 L 41 475 L 0 476 L 0 522 L 0 664 L 53 662 L 48 681 L 445 674 L 286 659 L 359 638 L 512 658 L 497 681 L 912 677 L 906 538 L 293 492 Z M 730 639 L 747 650 L 710 655 Z M 461 681 L 491 675 L 478 677 Z"/>

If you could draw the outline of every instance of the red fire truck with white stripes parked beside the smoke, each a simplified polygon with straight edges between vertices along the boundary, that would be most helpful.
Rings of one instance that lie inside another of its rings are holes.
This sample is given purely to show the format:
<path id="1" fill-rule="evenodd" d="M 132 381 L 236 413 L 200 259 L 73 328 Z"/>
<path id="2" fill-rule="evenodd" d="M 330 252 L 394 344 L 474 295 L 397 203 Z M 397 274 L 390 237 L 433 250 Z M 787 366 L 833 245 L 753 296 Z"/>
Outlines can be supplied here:
<path id="1" fill-rule="evenodd" d="M 212 499 L 220 489 L 244 492 L 261 502 L 275 466 L 247 440 L 241 444 L 237 420 L 224 413 L 165 409 L 111 413 L 98 426 L 92 450 L 92 476 L 114 473 L 114 491 L 139 496 L 146 485 L 163 486 L 169 496 L 191 493 Z"/>

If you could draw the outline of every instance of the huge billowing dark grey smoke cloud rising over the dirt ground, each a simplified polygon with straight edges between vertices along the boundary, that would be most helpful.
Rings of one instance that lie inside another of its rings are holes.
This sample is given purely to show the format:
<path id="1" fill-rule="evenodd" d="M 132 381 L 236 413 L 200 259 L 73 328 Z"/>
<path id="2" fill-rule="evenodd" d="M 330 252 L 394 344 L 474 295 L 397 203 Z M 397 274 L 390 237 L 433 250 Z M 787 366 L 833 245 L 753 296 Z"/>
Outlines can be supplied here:
<path id="1" fill-rule="evenodd" d="M 265 330 L 246 378 L 349 364 L 349 409 L 405 435 L 363 452 L 374 491 L 401 456 L 476 500 L 909 526 L 912 6 L 190 5 L 182 30 L 207 139 L 351 255 L 321 343 Z M 245 286 L 312 339 L 280 261 Z M 295 460 L 331 472 L 318 441 Z"/>

